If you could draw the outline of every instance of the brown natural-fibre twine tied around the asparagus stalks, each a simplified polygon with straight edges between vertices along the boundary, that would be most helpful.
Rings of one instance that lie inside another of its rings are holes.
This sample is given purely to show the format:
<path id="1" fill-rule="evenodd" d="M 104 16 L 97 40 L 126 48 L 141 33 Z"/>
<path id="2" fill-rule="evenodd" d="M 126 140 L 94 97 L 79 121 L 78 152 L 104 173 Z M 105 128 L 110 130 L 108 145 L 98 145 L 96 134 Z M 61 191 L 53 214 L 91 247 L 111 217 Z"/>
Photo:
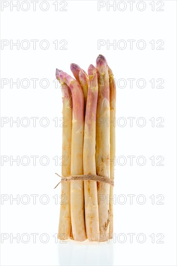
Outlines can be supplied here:
<path id="1" fill-rule="evenodd" d="M 55 173 L 57 176 L 59 176 L 59 174 Z M 61 177 L 61 176 L 59 176 Z M 61 182 L 65 182 L 65 181 L 82 181 L 82 180 L 92 180 L 92 181 L 98 181 L 98 182 L 104 182 L 104 183 L 108 183 L 112 186 L 114 186 L 114 181 L 112 179 L 110 179 L 109 177 L 102 177 L 102 176 L 97 176 L 97 175 L 78 175 L 78 176 L 70 176 L 70 177 L 61 177 L 61 181 L 59 181 L 59 183 L 57 184 L 57 186 L 61 183 Z M 55 186 L 55 188 L 57 187 Z M 54 189 L 55 189 L 54 188 Z"/>

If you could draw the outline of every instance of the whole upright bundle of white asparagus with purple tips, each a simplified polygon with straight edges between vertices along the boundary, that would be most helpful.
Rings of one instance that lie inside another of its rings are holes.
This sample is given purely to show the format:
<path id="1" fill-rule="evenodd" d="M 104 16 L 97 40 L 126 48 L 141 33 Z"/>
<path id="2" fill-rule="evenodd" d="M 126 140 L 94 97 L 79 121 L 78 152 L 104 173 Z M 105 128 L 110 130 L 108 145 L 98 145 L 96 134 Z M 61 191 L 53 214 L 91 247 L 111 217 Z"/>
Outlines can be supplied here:
<path id="1" fill-rule="evenodd" d="M 106 241 L 113 235 L 116 86 L 103 55 L 88 74 L 71 64 L 75 79 L 56 70 L 63 98 L 59 239 Z M 109 123 L 111 121 L 111 123 Z M 110 125 L 110 126 L 109 126 Z M 109 204 L 107 198 L 110 198 Z"/>

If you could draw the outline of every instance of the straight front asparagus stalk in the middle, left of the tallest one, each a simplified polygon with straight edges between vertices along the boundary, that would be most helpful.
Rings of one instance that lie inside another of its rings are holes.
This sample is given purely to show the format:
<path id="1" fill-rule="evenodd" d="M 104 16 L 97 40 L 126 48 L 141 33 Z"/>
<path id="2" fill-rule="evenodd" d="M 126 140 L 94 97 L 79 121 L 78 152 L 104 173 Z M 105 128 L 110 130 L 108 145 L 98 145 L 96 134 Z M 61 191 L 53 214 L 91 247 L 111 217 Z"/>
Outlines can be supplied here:
<path id="1" fill-rule="evenodd" d="M 80 72 L 81 73 L 81 72 Z M 80 75 L 79 73 L 79 75 Z M 88 68 L 88 99 L 86 105 L 84 127 L 83 166 L 84 175 L 96 175 L 95 144 L 96 144 L 96 110 L 98 98 L 98 80 L 96 68 L 90 65 Z M 89 241 L 97 241 L 99 236 L 99 215 L 97 182 L 84 180 L 85 196 L 85 221 L 86 232 Z"/>

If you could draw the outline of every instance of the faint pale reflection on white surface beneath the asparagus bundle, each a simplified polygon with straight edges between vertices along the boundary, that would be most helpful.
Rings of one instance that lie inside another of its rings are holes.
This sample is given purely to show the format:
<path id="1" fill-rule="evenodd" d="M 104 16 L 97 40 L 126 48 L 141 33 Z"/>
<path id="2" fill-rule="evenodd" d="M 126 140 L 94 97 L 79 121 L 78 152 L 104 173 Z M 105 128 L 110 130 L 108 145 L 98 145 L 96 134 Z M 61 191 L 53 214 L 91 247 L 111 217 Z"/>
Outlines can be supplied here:
<path id="1" fill-rule="evenodd" d="M 58 244 L 58 251 L 59 266 L 113 265 L 113 240 L 109 243 L 68 240 Z"/>

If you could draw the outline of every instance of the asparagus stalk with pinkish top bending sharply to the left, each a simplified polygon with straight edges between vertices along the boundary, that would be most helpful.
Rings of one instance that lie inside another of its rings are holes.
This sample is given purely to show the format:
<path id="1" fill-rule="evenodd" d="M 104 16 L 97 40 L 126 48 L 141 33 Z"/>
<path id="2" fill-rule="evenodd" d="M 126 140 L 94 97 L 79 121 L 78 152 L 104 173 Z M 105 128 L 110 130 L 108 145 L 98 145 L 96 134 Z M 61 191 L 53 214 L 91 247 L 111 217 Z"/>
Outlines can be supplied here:
<path id="1" fill-rule="evenodd" d="M 79 83 L 70 75 L 60 72 L 72 92 L 73 121 L 71 144 L 71 175 L 83 174 L 83 140 L 84 140 L 84 95 Z M 71 222 L 74 240 L 86 240 L 84 217 L 84 182 L 71 181 Z"/>

